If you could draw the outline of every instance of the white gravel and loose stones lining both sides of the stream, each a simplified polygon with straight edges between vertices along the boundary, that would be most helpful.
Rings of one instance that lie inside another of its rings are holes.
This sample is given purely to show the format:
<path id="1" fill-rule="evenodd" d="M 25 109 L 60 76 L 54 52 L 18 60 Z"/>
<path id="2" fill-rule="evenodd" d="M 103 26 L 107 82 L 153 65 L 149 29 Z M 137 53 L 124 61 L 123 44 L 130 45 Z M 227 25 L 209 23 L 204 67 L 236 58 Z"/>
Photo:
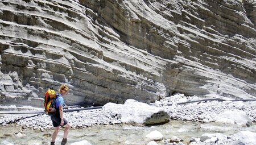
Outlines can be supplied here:
<path id="1" fill-rule="evenodd" d="M 248 119 L 244 127 L 250 126 L 256 122 L 256 105 L 255 101 L 247 102 L 232 102 L 232 101 L 207 101 L 207 102 L 195 102 L 187 103 L 185 105 L 177 105 L 179 102 L 187 102 L 193 100 L 200 100 L 199 97 L 190 96 L 186 97 L 184 94 L 176 94 L 171 97 L 166 97 L 163 100 L 151 103 L 152 106 L 162 107 L 169 114 L 171 119 L 183 120 L 183 121 L 197 121 L 197 122 L 214 122 L 217 121 L 218 115 L 225 111 L 241 111 L 246 114 Z M 1 106 L 8 107 L 8 106 Z M 34 109 L 41 110 L 42 109 Z M 82 110 L 64 113 L 64 117 L 71 123 L 72 128 L 82 128 L 96 125 L 115 125 L 120 124 L 120 117 L 112 115 L 108 111 L 102 109 Z M 243 119 L 243 118 L 241 118 Z M 24 115 L 1 115 L 0 125 L 5 126 L 9 123 L 15 123 L 17 126 L 21 126 L 22 129 L 31 130 L 49 130 L 52 129 L 52 122 L 46 114 L 24 114 Z M 236 122 L 235 122 L 236 123 Z M 207 133 L 207 132 L 206 132 Z M 200 136 L 198 136 L 200 138 Z M 214 142 L 201 142 L 200 139 L 195 140 L 196 144 L 239 144 L 240 140 L 232 136 L 228 136 L 225 139 L 213 140 Z M 198 142 L 196 142 L 198 141 Z M 162 140 L 165 145 L 177 144 L 170 143 L 170 140 Z M 183 144 L 179 142 L 179 144 Z"/>

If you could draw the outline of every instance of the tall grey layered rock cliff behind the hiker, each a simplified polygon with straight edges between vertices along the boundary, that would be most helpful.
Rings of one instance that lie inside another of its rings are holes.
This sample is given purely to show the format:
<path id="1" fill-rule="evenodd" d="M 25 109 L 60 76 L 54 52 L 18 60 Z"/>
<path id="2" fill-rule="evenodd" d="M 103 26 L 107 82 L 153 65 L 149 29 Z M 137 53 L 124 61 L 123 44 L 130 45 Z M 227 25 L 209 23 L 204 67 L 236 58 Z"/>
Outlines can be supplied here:
<path id="1" fill-rule="evenodd" d="M 253 0 L 0 2 L 1 103 L 256 98 Z"/>

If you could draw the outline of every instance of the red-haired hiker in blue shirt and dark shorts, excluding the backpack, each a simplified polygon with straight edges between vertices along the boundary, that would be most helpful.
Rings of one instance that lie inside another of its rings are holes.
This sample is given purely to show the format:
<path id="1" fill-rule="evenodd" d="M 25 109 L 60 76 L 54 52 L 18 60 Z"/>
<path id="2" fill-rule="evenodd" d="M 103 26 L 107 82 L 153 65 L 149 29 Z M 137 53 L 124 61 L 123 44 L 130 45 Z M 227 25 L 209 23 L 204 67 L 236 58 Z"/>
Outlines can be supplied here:
<path id="1" fill-rule="evenodd" d="M 57 137 L 57 134 L 59 133 L 60 126 L 65 127 L 61 145 L 67 144 L 68 131 L 71 128 L 71 125 L 68 123 L 68 121 L 64 118 L 64 115 L 63 115 L 63 106 L 65 105 L 63 97 L 68 94 L 68 90 L 69 89 L 67 85 L 65 84 L 61 85 L 59 89 L 59 94 L 57 94 L 57 97 L 56 97 L 56 106 L 55 106 L 56 113 L 55 115 L 51 116 L 52 125 L 55 129 L 52 134 L 51 145 L 55 145 L 55 139 Z"/>

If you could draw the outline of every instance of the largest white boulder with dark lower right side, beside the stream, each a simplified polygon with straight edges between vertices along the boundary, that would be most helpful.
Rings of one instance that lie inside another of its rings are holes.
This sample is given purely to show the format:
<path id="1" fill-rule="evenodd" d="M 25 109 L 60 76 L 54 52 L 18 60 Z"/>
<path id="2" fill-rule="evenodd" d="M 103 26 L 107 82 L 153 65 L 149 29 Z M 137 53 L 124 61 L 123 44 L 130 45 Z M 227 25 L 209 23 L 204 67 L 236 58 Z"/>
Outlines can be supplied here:
<path id="1" fill-rule="evenodd" d="M 106 103 L 102 109 L 108 111 L 113 117 L 120 117 L 122 123 L 154 125 L 170 121 L 170 115 L 162 108 L 135 100 L 127 100 L 123 105 Z"/>

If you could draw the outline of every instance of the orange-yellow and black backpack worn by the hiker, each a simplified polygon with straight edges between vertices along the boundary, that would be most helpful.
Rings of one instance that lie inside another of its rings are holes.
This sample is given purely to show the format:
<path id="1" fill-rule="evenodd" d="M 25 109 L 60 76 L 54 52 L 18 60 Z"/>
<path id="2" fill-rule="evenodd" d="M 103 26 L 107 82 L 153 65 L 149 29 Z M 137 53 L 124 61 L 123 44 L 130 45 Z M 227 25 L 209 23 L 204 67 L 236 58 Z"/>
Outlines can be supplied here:
<path id="1" fill-rule="evenodd" d="M 51 87 L 49 90 L 47 90 L 46 94 L 44 95 L 44 111 L 47 115 L 55 115 L 56 108 L 56 98 L 57 94 L 53 90 L 53 87 Z"/>

